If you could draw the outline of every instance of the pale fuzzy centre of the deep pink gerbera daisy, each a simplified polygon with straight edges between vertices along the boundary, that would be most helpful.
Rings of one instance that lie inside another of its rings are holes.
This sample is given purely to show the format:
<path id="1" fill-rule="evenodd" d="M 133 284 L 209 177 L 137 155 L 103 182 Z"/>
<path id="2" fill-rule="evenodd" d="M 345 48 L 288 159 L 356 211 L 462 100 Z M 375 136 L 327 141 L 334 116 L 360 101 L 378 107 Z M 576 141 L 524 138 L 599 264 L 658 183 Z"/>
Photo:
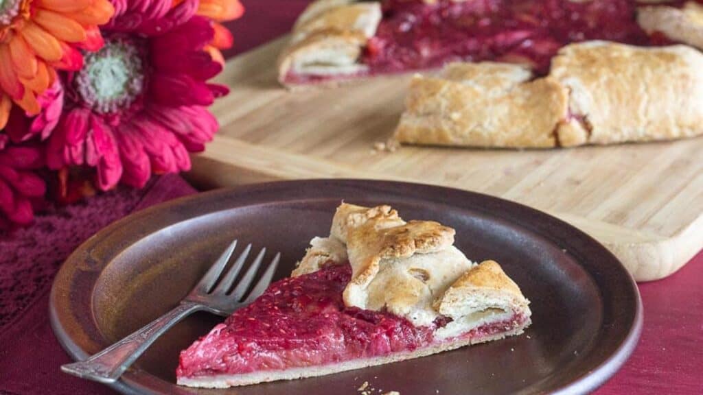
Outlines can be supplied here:
<path id="1" fill-rule="evenodd" d="M 134 42 L 110 39 L 100 51 L 85 53 L 76 82 L 83 101 L 96 112 L 129 108 L 144 90 L 142 58 Z"/>

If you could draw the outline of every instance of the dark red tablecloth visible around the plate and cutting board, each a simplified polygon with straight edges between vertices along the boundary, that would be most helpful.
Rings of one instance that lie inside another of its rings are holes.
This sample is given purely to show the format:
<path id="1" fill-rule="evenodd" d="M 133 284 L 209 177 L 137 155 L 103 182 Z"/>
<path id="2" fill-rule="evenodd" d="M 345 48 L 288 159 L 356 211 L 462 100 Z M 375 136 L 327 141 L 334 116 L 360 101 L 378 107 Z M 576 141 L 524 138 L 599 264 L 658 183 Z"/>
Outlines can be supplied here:
<path id="1" fill-rule="evenodd" d="M 287 32 L 307 0 L 243 3 L 245 17 L 230 24 L 236 47 L 228 56 Z M 100 228 L 193 192 L 180 177 L 165 176 L 144 190 L 108 193 L 42 216 L 32 228 L 0 234 L 0 394 L 114 394 L 100 384 L 60 373 L 59 365 L 69 358 L 49 326 L 51 279 L 61 261 Z M 703 394 L 702 285 L 703 252 L 673 276 L 640 284 L 645 306 L 640 344 L 597 394 Z"/>

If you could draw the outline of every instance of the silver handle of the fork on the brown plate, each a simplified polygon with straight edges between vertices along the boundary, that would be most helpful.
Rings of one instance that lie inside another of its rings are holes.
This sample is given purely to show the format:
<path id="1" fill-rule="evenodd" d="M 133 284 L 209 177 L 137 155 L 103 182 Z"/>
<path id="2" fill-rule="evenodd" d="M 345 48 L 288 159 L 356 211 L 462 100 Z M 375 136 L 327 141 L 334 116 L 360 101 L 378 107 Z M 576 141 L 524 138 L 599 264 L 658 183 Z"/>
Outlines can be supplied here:
<path id="1" fill-rule="evenodd" d="M 67 363 L 61 370 L 70 375 L 97 382 L 115 382 L 136 358 L 173 325 L 194 311 L 202 310 L 202 305 L 183 302 L 163 316 L 144 325 L 140 330 L 125 337 L 112 346 L 91 356 L 85 361 Z"/>

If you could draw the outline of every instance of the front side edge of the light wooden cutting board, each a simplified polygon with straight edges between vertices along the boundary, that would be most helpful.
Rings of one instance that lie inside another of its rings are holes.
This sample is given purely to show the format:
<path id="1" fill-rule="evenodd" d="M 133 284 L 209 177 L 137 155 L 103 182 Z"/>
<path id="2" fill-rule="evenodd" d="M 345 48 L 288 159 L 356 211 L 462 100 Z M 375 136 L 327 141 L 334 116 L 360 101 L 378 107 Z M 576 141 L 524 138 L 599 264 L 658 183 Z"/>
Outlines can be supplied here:
<path id="1" fill-rule="evenodd" d="M 237 155 L 232 160 L 230 153 Z M 201 187 L 236 186 L 245 183 L 288 179 L 389 179 L 378 174 L 356 171 L 334 163 L 311 160 L 232 138 L 216 136 L 205 153 L 193 157 L 189 181 Z M 418 182 L 415 179 L 392 178 L 394 181 Z M 441 183 L 432 183 L 443 185 Z M 676 272 L 699 252 L 703 245 L 703 216 L 681 234 L 662 237 L 602 221 L 583 219 L 561 212 L 550 212 L 592 235 L 613 252 L 638 281 L 657 280 Z"/>

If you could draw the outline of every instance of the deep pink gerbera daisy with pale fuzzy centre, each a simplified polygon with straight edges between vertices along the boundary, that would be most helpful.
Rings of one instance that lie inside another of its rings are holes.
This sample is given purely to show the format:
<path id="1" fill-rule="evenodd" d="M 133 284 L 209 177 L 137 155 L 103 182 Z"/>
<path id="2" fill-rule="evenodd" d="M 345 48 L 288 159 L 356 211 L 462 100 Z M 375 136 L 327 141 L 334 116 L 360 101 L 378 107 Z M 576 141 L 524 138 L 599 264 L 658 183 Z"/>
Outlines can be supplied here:
<path id="1" fill-rule="evenodd" d="M 64 115 L 47 148 L 51 169 L 94 167 L 102 190 L 190 169 L 188 152 L 217 130 L 207 105 L 227 92 L 207 83 L 222 66 L 205 51 L 214 30 L 195 15 L 198 1 L 112 4 L 105 46 L 64 81 Z"/>

